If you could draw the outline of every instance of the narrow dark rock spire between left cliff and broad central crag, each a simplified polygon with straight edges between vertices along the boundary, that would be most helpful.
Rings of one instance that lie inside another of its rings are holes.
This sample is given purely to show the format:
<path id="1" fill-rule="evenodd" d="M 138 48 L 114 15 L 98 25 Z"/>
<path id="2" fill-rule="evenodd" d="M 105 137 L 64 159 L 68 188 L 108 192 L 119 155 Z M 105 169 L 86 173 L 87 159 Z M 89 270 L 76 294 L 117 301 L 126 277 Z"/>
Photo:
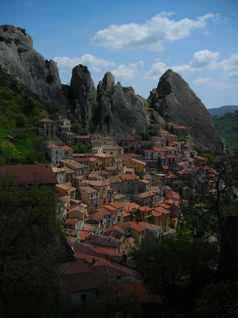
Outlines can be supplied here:
<path id="1" fill-rule="evenodd" d="M 91 107 L 96 104 L 96 88 L 87 66 L 77 65 L 72 70 L 71 99 L 76 103 L 76 114 L 85 120 L 86 129 L 92 119 Z"/>

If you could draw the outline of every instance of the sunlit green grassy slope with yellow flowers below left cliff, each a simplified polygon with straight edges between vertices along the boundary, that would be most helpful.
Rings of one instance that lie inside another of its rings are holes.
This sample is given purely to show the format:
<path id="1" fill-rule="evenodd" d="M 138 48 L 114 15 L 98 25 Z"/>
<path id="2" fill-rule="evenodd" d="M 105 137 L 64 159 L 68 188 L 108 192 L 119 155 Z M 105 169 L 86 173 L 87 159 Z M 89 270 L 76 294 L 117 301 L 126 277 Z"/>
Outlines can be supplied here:
<path id="1" fill-rule="evenodd" d="M 0 67 L 0 164 L 36 161 L 36 123 L 50 108 Z"/>

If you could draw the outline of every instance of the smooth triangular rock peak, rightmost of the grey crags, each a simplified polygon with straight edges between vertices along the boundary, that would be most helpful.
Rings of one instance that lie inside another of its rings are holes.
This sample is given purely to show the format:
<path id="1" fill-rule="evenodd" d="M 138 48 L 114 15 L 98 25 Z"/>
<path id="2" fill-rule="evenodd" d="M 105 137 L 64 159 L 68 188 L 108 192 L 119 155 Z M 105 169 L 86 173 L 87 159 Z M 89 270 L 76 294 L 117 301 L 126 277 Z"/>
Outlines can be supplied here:
<path id="1" fill-rule="evenodd" d="M 151 107 L 166 122 L 187 127 L 190 144 L 212 151 L 223 150 L 206 107 L 178 73 L 171 69 L 166 71 L 148 98 L 151 100 Z"/>

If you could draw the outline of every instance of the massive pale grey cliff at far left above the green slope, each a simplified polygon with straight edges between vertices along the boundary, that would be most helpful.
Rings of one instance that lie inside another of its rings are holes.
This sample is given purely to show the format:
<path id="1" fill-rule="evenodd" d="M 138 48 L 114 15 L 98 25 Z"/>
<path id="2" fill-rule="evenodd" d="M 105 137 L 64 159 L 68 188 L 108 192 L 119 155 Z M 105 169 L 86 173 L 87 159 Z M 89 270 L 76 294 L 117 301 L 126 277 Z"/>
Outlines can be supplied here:
<path id="1" fill-rule="evenodd" d="M 24 29 L 0 26 L 0 64 L 46 103 L 60 107 L 66 114 L 57 63 L 49 62 L 33 49 L 33 40 Z"/>

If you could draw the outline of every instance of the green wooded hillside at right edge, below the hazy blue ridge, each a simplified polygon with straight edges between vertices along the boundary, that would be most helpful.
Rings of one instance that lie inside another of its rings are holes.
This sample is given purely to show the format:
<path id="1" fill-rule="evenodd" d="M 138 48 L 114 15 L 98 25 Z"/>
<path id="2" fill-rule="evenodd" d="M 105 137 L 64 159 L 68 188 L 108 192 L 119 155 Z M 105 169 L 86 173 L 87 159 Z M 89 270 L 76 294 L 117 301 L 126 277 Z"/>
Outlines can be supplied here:
<path id="1" fill-rule="evenodd" d="M 218 134 L 225 138 L 226 144 L 230 147 L 238 147 L 238 110 L 213 117 L 213 122 Z"/>

